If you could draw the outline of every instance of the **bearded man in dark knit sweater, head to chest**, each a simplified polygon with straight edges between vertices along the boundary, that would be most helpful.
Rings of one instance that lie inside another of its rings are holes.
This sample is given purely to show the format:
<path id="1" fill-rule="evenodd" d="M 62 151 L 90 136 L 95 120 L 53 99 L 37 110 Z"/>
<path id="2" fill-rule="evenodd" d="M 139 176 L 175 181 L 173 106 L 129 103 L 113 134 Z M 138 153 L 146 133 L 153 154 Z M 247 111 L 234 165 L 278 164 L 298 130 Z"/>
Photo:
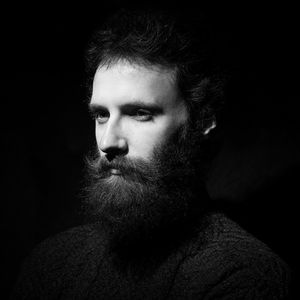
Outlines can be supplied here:
<path id="1" fill-rule="evenodd" d="M 228 78 L 206 34 L 203 24 L 125 11 L 95 34 L 87 53 L 97 140 L 88 159 L 91 221 L 39 245 L 13 298 L 287 296 L 285 263 L 216 212 L 206 193 Z"/>

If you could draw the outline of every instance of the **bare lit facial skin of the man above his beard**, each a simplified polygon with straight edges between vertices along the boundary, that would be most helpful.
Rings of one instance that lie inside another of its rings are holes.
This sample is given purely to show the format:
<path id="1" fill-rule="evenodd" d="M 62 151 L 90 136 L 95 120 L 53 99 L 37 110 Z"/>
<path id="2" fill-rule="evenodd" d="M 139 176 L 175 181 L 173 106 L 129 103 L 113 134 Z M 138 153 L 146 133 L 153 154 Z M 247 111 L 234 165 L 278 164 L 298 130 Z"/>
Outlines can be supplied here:
<path id="1" fill-rule="evenodd" d="M 187 121 L 174 72 L 118 62 L 94 77 L 90 110 L 101 156 L 150 159 Z"/>

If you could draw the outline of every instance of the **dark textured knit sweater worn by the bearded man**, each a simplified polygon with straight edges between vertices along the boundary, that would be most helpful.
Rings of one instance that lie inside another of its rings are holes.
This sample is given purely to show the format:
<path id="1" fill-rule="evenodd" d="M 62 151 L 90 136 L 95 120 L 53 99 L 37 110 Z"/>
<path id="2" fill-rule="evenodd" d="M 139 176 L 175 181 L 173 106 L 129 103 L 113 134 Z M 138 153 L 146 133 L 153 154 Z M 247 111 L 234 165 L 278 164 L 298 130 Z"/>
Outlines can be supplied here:
<path id="1" fill-rule="evenodd" d="M 289 269 L 222 214 L 162 261 L 122 270 L 95 225 L 43 242 L 26 261 L 13 299 L 285 299 Z"/>

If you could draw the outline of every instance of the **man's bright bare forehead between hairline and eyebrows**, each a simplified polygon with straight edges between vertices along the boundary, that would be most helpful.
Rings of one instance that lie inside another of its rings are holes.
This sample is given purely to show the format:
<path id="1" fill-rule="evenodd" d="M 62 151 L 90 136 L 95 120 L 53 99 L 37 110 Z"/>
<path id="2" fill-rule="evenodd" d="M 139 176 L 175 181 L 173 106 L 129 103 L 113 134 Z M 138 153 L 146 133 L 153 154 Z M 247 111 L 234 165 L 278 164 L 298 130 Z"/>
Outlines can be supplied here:
<path id="1" fill-rule="evenodd" d="M 91 103 L 114 104 L 130 100 L 176 105 L 179 97 L 175 71 L 118 62 L 98 68 Z"/>

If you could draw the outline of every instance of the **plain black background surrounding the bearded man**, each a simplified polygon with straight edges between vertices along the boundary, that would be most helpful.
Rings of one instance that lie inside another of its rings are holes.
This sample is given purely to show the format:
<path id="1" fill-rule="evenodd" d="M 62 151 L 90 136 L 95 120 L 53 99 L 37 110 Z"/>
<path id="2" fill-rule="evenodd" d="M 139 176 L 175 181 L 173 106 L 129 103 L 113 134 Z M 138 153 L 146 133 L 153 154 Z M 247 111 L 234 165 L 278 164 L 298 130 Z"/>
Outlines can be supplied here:
<path id="1" fill-rule="evenodd" d="M 174 8 L 170 1 L 161 5 Z M 94 143 L 85 104 L 84 50 L 92 30 L 121 6 L 122 1 L 15 4 L 2 12 L 4 293 L 38 242 L 81 222 L 84 155 Z M 208 180 L 209 193 L 297 271 L 296 7 L 184 1 L 175 9 L 204 14 L 232 41 L 247 79 L 226 106 L 225 142 Z"/>

